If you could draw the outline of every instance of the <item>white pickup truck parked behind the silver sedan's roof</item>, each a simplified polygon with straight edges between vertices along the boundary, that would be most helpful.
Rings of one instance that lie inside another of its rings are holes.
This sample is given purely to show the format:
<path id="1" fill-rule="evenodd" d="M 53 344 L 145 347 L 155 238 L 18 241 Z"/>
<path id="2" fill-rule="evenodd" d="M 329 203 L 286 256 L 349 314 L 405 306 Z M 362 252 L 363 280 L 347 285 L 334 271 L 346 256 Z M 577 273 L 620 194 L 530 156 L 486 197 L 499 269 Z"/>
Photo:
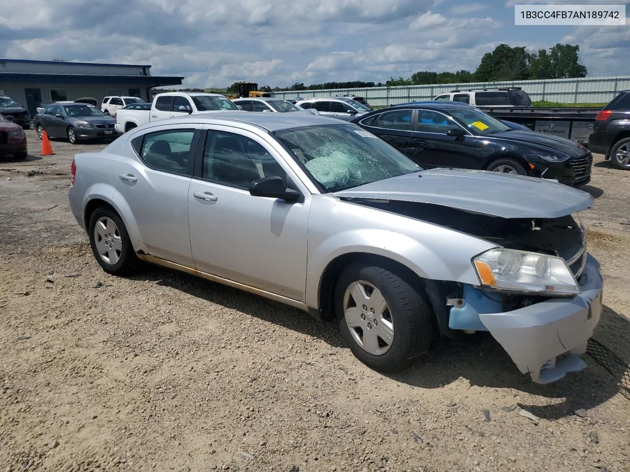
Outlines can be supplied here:
<path id="1" fill-rule="evenodd" d="M 149 121 L 205 113 L 216 110 L 239 110 L 226 96 L 215 93 L 167 92 L 157 94 L 151 110 L 129 110 L 121 108 L 116 114 L 116 131 L 126 133 Z"/>

